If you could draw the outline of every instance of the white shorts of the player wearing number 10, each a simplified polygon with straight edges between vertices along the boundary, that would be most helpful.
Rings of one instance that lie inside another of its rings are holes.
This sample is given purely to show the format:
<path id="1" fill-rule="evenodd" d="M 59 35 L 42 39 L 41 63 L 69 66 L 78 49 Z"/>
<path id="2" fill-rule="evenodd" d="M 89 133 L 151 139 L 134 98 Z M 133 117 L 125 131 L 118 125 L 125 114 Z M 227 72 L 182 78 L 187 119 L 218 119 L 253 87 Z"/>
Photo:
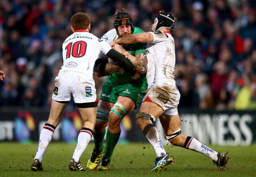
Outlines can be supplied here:
<path id="1" fill-rule="evenodd" d="M 55 77 L 52 99 L 70 101 L 71 95 L 75 103 L 90 103 L 97 99 L 95 82 L 86 74 L 75 71 L 62 71 Z"/>

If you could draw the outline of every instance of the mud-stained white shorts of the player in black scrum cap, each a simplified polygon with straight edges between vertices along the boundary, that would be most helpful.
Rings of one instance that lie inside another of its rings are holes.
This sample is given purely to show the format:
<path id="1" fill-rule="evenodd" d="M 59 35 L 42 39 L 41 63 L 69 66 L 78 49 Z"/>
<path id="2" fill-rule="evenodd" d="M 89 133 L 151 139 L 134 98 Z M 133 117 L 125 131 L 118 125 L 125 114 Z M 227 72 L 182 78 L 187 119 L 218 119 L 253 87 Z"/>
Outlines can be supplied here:
<path id="1" fill-rule="evenodd" d="M 173 116 L 178 114 L 180 92 L 174 85 L 158 83 L 152 85 L 152 87 L 147 90 L 147 94 L 142 101 L 152 101 L 163 108 L 164 115 Z"/>

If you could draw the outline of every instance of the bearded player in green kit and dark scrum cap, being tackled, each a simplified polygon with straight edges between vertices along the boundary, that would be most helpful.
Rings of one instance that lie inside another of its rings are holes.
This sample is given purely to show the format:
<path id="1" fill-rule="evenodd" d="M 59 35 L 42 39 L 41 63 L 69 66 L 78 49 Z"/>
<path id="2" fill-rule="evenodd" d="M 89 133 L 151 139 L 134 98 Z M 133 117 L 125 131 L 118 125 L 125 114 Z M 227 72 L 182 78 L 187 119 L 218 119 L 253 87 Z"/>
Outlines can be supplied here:
<path id="1" fill-rule="evenodd" d="M 102 37 L 102 40 L 109 44 L 117 38 L 144 32 L 132 25 L 130 11 L 127 9 L 117 10 L 113 17 L 115 18 L 115 28 Z M 96 168 L 109 170 L 109 162 L 121 134 L 122 118 L 139 106 L 147 90 L 147 57 L 144 44 L 124 44 L 115 50 L 132 61 L 136 74 L 132 76 L 124 72 L 117 62 L 112 62 L 111 59 L 107 60 L 104 56 L 99 56 L 95 62 L 96 75 L 98 77 L 108 76 L 108 78 L 102 85 L 102 93 L 97 107 L 96 125 L 93 131 L 95 147 L 87 162 L 87 169 L 91 170 Z M 103 140 L 107 125 L 105 148 Z"/>

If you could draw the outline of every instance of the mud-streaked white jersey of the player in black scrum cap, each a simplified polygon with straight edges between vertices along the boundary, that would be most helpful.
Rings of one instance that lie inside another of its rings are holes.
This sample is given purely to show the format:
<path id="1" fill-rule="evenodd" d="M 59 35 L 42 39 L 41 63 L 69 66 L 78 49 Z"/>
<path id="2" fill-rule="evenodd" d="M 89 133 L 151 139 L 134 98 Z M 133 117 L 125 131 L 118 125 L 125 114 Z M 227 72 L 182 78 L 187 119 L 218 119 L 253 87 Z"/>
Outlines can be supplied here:
<path id="1" fill-rule="evenodd" d="M 175 46 L 170 32 L 150 31 L 154 41 L 147 43 L 148 59 L 147 82 L 148 89 L 157 83 L 175 86 Z"/>

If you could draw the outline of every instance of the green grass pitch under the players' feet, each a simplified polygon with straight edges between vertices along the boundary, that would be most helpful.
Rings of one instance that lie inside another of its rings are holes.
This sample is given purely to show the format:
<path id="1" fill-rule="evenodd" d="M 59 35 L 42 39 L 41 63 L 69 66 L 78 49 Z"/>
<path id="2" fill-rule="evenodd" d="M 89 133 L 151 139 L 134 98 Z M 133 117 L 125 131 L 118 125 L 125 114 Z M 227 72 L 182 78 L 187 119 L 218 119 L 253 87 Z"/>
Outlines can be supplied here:
<path id="1" fill-rule="evenodd" d="M 72 157 L 75 144 L 52 142 L 43 160 L 43 171 L 31 171 L 30 165 L 37 148 L 37 143 L 19 144 L 16 142 L 0 143 L 0 176 L 20 177 L 163 177 L 163 176 L 256 176 L 256 144 L 251 146 L 211 146 L 216 151 L 229 151 L 230 160 L 226 171 L 218 171 L 212 160 L 204 155 L 172 145 L 164 146 L 174 156 L 173 165 L 165 170 L 152 173 L 155 152 L 148 143 L 117 144 L 111 159 L 109 171 L 69 171 L 68 164 Z M 145 148 L 144 148 L 145 147 Z M 85 167 L 92 152 L 93 143 L 85 149 L 80 161 Z"/>

